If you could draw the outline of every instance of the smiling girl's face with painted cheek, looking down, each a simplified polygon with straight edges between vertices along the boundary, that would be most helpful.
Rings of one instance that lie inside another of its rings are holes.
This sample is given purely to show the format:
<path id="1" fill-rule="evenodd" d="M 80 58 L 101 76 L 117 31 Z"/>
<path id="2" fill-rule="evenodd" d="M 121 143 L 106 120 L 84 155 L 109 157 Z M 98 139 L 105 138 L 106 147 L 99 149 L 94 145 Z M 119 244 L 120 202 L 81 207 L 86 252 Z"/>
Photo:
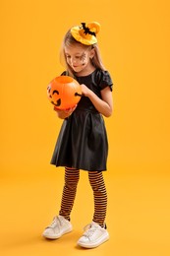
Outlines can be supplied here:
<path id="1" fill-rule="evenodd" d="M 93 66 L 90 59 L 94 56 L 94 49 L 91 46 L 85 47 L 80 44 L 65 46 L 65 56 L 68 65 L 78 74 L 90 72 Z"/>

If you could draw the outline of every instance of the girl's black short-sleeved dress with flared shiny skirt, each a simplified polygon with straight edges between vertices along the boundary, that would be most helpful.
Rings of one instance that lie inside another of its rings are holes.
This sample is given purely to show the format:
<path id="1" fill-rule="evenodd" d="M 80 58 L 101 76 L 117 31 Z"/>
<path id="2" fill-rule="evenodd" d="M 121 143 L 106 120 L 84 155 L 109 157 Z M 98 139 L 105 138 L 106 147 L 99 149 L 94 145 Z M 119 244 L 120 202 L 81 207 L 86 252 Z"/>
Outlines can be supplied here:
<path id="1" fill-rule="evenodd" d="M 63 73 L 65 75 L 66 73 Z M 108 71 L 94 70 L 85 77 L 76 77 L 101 98 L 100 91 L 110 87 L 112 80 Z M 82 96 L 76 110 L 64 119 L 51 163 L 56 166 L 84 170 L 106 170 L 108 142 L 104 119 L 90 99 Z"/>

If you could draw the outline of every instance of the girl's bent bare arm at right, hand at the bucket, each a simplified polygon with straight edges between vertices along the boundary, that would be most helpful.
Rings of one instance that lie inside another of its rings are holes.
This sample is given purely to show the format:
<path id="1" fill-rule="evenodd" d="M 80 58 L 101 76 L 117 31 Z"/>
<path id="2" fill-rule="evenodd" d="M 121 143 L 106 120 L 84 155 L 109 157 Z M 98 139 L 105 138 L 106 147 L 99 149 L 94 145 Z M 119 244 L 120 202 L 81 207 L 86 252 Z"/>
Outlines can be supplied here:
<path id="1" fill-rule="evenodd" d="M 89 90 L 85 85 L 82 86 L 82 93 L 84 96 L 87 96 L 95 108 L 105 117 L 109 117 L 113 111 L 113 98 L 112 92 L 109 87 L 106 87 L 101 91 L 101 98 L 96 96 L 91 90 Z"/>

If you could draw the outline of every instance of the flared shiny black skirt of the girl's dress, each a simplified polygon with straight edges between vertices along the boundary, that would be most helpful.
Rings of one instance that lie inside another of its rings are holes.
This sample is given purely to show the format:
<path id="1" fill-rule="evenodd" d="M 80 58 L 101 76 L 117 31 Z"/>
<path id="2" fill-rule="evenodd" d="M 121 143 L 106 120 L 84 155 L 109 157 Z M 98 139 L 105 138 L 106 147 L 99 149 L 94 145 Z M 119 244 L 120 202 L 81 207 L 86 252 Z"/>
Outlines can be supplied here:
<path id="1" fill-rule="evenodd" d="M 51 163 L 84 170 L 106 170 L 108 141 L 102 115 L 76 109 L 63 121 Z"/>

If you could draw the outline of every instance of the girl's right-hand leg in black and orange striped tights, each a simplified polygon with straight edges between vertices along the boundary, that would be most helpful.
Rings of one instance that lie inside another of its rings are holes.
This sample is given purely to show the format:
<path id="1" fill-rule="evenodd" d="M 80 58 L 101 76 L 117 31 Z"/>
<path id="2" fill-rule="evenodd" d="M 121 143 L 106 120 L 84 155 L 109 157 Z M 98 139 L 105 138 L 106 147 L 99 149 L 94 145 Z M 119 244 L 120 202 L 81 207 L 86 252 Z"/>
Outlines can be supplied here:
<path id="1" fill-rule="evenodd" d="M 107 192 L 102 171 L 88 171 L 88 178 L 94 196 L 93 222 L 104 227 L 107 208 Z"/>

